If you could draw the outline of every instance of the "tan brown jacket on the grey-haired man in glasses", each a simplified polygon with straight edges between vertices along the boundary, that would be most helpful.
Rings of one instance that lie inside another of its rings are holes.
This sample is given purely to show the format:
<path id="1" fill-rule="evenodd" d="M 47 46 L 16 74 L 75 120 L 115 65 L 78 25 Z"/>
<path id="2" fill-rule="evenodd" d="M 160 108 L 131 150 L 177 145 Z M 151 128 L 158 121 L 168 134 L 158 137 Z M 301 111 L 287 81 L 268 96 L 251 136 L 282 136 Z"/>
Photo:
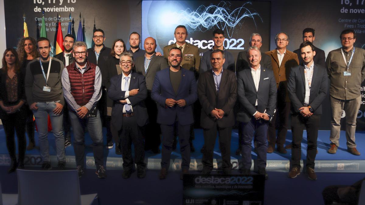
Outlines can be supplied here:
<path id="1" fill-rule="evenodd" d="M 276 49 L 268 51 L 266 54 L 271 57 L 271 65 L 274 71 L 278 91 L 277 98 L 285 100 L 285 102 L 289 102 L 287 76 L 289 76 L 290 69 L 292 67 L 299 65 L 298 56 L 291 51 L 285 51 L 283 61 L 281 61 L 281 66 L 279 66 Z"/>

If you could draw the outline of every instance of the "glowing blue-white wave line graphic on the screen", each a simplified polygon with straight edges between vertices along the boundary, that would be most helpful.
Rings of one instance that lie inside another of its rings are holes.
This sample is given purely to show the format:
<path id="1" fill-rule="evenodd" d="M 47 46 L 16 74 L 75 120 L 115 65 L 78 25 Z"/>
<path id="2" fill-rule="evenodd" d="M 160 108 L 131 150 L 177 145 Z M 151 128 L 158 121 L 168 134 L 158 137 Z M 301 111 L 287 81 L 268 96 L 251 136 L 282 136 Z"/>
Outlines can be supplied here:
<path id="1" fill-rule="evenodd" d="M 226 30 L 228 37 L 231 38 L 234 28 L 242 25 L 246 18 L 251 18 L 256 27 L 255 16 L 262 22 L 260 14 L 251 12 L 245 7 L 246 4 L 252 3 L 246 2 L 242 7 L 236 8 L 233 11 L 229 8 L 230 3 L 224 1 L 221 1 L 218 5 L 210 4 L 208 7 L 200 5 L 195 11 L 191 11 L 190 8 L 180 10 L 177 13 L 177 19 L 179 19 L 180 24 L 187 26 L 188 32 L 204 32 L 217 26 L 222 30 Z"/>

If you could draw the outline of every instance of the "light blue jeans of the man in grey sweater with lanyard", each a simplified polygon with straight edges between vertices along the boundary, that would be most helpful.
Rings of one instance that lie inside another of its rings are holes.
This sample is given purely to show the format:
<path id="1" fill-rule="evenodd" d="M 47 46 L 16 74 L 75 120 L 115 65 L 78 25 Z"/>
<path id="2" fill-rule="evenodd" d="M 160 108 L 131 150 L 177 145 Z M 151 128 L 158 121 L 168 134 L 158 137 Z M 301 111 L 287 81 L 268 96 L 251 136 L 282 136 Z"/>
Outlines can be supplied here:
<path id="1" fill-rule="evenodd" d="M 59 102 L 59 101 L 56 101 Z M 53 113 L 56 102 L 37 102 L 37 110 L 33 110 L 38 128 L 39 148 L 43 162 L 50 162 L 48 144 L 48 116 L 52 123 L 52 132 L 56 142 L 57 160 L 65 161 L 65 138 L 62 130 L 63 111 L 59 115 Z"/>

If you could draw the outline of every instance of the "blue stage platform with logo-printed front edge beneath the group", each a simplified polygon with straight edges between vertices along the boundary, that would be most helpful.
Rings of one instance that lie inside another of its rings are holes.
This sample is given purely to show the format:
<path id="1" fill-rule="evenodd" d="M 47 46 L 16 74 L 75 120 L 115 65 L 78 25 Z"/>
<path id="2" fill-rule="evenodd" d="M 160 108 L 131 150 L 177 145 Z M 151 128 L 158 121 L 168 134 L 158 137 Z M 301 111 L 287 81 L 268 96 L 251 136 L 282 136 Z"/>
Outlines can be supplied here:
<path id="1" fill-rule="evenodd" d="M 103 130 L 104 134 L 104 147 L 106 144 L 106 130 Z M 330 147 L 329 143 L 329 135 L 330 131 L 321 130 L 318 134 L 318 154 L 316 156 L 316 165 L 315 170 L 316 172 L 342 172 L 342 173 L 365 173 L 365 132 L 358 131 L 356 132 L 356 144 L 358 151 L 361 152 L 360 156 L 355 156 L 347 152 L 346 147 L 346 137 L 345 131 L 341 131 L 340 137 L 340 147 L 336 154 L 328 154 L 327 150 Z M 86 160 L 86 168 L 87 169 L 95 169 L 95 163 L 93 159 L 92 153 L 92 141 L 88 136 L 88 133 L 85 134 L 85 143 L 87 145 L 85 152 L 87 153 L 87 160 Z M 72 140 L 73 136 L 71 135 Z M 35 133 L 36 145 L 37 147 L 31 151 L 26 151 L 26 159 L 25 165 L 26 166 L 41 166 L 42 159 L 39 155 L 39 147 L 38 147 L 38 133 Z M 55 143 L 54 143 L 54 136 L 52 132 L 49 133 L 49 143 L 50 143 L 50 155 L 51 155 L 51 164 L 52 166 L 57 166 L 57 157 L 55 156 Z M 287 134 L 287 141 L 286 144 L 291 143 L 292 134 L 291 131 L 288 131 Z M 204 139 L 203 139 L 203 130 L 202 129 L 195 129 L 195 140 L 194 146 L 196 151 L 191 154 L 191 163 L 190 163 L 190 170 L 201 170 L 201 158 L 203 155 L 200 153 L 200 149 L 203 147 Z M 27 138 L 28 144 L 28 138 Z M 114 146 L 115 147 L 115 146 Z M 253 146 L 252 146 L 253 147 Z M 235 155 L 235 151 L 238 148 L 238 133 L 237 129 L 234 129 L 232 132 L 232 139 L 231 139 L 231 162 L 233 163 L 233 169 L 238 170 L 241 167 L 241 156 Z M 306 132 L 304 131 L 303 142 L 302 142 L 302 156 L 301 156 L 301 163 L 303 160 L 306 159 Z M 133 150 L 133 149 L 132 149 Z M 272 154 L 267 155 L 267 167 L 268 171 L 274 172 L 288 172 L 289 170 L 289 160 L 291 158 L 291 150 L 287 150 L 287 154 L 280 154 L 277 151 L 274 151 Z M 66 167 L 76 167 L 75 157 L 74 157 L 74 149 L 73 146 L 67 147 L 66 150 Z M 253 165 L 251 170 L 254 170 L 254 161 L 257 159 L 257 154 L 253 151 L 252 148 L 252 159 Z M 214 167 L 220 167 L 221 154 L 219 151 L 218 145 L 218 137 L 215 144 L 214 150 Z M 115 149 L 106 149 L 104 148 L 104 158 L 106 158 L 106 169 L 115 169 L 120 170 L 123 169 L 122 163 L 122 155 L 116 155 Z M 218 158 L 218 160 L 216 160 Z M 146 163 L 147 169 L 150 170 L 159 170 L 161 168 L 161 154 L 153 154 L 150 151 L 146 151 Z M 181 170 L 181 156 L 180 156 L 180 148 L 177 145 L 176 151 L 172 152 L 171 156 L 171 163 L 170 163 L 170 170 L 178 171 Z M 5 133 L 2 128 L 0 128 L 0 166 L 9 166 L 10 165 L 10 158 L 8 155 L 8 151 L 6 148 L 5 143 Z M 303 168 L 303 166 L 302 166 Z"/>

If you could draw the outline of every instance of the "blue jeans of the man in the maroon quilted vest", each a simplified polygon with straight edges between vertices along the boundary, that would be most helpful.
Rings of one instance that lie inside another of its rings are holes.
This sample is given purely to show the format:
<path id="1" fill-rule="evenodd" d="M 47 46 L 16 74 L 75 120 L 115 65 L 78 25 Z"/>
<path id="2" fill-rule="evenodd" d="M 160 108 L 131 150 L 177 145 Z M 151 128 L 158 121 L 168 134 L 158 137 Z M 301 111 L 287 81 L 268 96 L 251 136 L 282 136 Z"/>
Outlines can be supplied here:
<path id="1" fill-rule="evenodd" d="M 77 166 L 84 166 L 85 161 L 85 127 L 88 127 L 89 135 L 93 142 L 93 153 L 96 167 L 103 166 L 103 131 L 100 113 L 96 117 L 84 117 L 81 119 L 77 113 L 69 110 L 74 136 L 74 150 Z"/>

